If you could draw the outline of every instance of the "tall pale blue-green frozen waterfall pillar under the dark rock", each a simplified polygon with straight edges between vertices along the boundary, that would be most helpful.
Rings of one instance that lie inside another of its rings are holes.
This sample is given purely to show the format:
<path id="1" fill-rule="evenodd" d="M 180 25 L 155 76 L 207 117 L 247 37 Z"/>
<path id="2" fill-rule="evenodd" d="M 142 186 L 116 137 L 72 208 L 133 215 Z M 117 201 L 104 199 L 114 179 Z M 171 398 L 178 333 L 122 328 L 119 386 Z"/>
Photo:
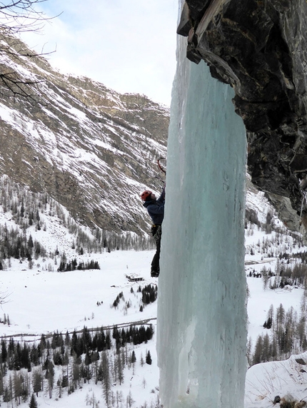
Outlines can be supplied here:
<path id="1" fill-rule="evenodd" d="M 233 90 L 178 39 L 158 295 L 164 408 L 243 407 L 246 133 Z"/>

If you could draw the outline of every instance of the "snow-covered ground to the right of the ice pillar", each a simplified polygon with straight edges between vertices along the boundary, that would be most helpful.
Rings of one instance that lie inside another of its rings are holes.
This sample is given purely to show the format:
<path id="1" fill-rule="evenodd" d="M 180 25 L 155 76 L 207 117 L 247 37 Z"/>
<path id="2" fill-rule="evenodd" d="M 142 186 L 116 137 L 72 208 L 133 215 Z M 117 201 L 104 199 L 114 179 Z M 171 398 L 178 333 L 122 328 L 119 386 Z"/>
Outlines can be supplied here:
<path id="1" fill-rule="evenodd" d="M 276 261 L 275 261 L 276 262 Z M 267 265 L 274 263 L 273 260 Z M 252 269 L 260 270 L 263 263 L 253 265 Z M 250 269 L 251 267 L 246 267 Z M 266 334 L 268 330 L 263 328 L 268 309 L 273 305 L 274 310 L 283 305 L 285 310 L 293 306 L 299 310 L 302 288 L 285 288 L 282 290 L 263 290 L 263 280 L 257 277 L 247 277 L 250 295 L 248 297 L 248 337 L 251 337 L 253 345 L 260 334 Z M 270 334 L 270 332 L 268 332 Z M 307 399 L 307 373 L 305 368 L 296 362 L 297 358 L 303 358 L 307 362 L 307 352 L 303 355 L 292 356 L 281 362 L 268 362 L 256 364 L 250 367 L 246 374 L 245 408 L 273 406 L 276 395 L 288 396 L 289 401 Z M 307 369 L 306 369 L 307 371 Z M 277 407 L 279 405 L 277 404 Z"/>

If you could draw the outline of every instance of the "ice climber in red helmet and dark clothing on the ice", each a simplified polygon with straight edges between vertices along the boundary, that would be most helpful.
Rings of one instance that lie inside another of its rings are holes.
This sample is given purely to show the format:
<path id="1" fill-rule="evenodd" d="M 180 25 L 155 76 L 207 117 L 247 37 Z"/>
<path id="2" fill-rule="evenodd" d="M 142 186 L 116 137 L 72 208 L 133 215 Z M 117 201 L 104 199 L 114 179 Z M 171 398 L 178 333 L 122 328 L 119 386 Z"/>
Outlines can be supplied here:
<path id="1" fill-rule="evenodd" d="M 144 193 L 141 193 L 141 199 L 144 201 L 143 205 L 147 208 L 151 220 L 154 223 L 154 225 L 151 226 L 151 233 L 156 242 L 156 253 L 151 261 L 151 276 L 158 277 L 160 273 L 161 224 L 164 217 L 165 188 L 163 187 L 162 193 L 158 199 L 150 190 L 145 190 Z"/>

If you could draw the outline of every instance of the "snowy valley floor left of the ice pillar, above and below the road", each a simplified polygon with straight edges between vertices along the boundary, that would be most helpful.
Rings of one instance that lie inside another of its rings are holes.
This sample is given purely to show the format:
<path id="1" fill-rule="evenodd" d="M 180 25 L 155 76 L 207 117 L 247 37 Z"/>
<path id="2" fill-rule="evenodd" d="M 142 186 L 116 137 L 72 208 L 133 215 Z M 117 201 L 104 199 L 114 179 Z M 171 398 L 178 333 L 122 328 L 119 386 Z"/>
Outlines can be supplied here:
<path id="1" fill-rule="evenodd" d="M 154 325 L 154 339 L 147 344 L 131 346 L 136 353 L 134 369 L 124 373 L 124 384 L 114 385 L 114 395 L 122 392 L 122 402 L 126 406 L 126 396 L 131 392 L 134 407 L 141 407 L 147 402 L 154 406 L 158 399 L 158 367 L 156 362 L 156 302 L 144 307 L 139 312 L 139 285 L 149 283 L 156 285 L 157 279 L 149 275 L 149 267 L 153 251 L 134 252 L 116 251 L 111 253 L 84 255 L 83 260 L 99 261 L 101 270 L 74 272 L 42 271 L 44 262 L 38 260 L 40 266 L 29 270 L 27 262 L 20 264 L 11 261 L 11 267 L 0 271 L 1 290 L 6 292 L 6 303 L 1 307 L 0 317 L 9 316 L 10 325 L 0 325 L 1 336 L 18 335 L 16 340 L 31 341 L 59 330 L 63 334 L 83 329 L 84 326 L 101 327 L 109 325 L 149 322 Z M 47 260 L 46 262 L 49 262 Z M 129 282 L 126 274 L 137 273 L 144 277 L 143 282 Z M 134 292 L 131 292 L 131 287 Z M 116 296 L 124 293 L 119 307 L 111 307 Z M 131 307 L 126 308 L 126 302 Z M 97 302 L 103 302 L 97 305 Z M 22 336 L 19 336 L 20 334 Z M 132 349 L 131 349 L 132 350 Z M 141 358 L 145 360 L 146 352 L 151 352 L 153 363 L 141 366 Z M 64 395 L 61 399 L 49 399 L 49 395 L 40 393 L 37 399 L 39 407 L 86 407 L 86 401 L 93 405 L 93 396 L 99 407 L 105 407 L 101 384 L 84 384 L 73 394 Z M 89 400 L 92 399 L 91 403 Z M 21 404 L 26 406 L 26 404 Z M 121 405 L 120 405 L 121 406 Z"/>

